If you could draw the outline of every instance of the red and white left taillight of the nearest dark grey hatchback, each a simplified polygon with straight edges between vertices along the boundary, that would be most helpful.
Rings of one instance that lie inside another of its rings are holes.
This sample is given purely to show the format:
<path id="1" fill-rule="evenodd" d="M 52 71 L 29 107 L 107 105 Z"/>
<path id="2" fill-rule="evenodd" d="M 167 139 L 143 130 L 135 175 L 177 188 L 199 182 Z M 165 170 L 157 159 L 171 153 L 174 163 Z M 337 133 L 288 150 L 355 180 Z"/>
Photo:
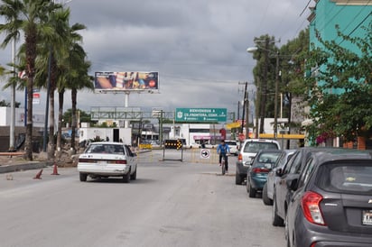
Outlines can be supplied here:
<path id="1" fill-rule="evenodd" d="M 313 224 L 326 225 L 321 215 L 321 200 L 323 197 L 318 193 L 308 191 L 301 200 L 302 212 L 305 218 Z"/>

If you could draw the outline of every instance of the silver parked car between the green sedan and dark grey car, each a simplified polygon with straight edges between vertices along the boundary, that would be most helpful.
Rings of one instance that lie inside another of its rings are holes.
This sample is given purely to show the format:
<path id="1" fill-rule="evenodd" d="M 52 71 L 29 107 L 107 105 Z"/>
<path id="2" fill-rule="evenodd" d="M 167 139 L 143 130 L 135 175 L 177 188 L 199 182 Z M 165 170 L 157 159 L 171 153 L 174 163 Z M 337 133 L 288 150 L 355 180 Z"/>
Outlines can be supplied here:
<path id="1" fill-rule="evenodd" d="M 273 169 L 267 174 L 267 180 L 262 190 L 262 200 L 265 205 L 273 205 L 274 185 L 275 181 L 278 179 L 276 170 L 284 167 L 288 160 L 292 158 L 294 151 L 295 150 L 284 150 L 274 163 Z"/>

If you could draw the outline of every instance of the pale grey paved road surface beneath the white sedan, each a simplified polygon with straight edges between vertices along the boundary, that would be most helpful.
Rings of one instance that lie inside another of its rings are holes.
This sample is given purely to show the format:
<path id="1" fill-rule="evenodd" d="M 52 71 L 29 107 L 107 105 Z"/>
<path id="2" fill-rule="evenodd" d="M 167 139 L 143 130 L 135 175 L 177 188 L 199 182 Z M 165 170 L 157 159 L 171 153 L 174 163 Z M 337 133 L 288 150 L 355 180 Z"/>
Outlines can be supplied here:
<path id="1" fill-rule="evenodd" d="M 234 166 L 220 176 L 213 162 L 162 157 L 142 154 L 130 184 L 79 182 L 75 168 L 56 176 L 48 167 L 42 179 L 33 179 L 39 170 L 0 174 L 0 245 L 285 246 L 271 207 L 235 185 Z"/>

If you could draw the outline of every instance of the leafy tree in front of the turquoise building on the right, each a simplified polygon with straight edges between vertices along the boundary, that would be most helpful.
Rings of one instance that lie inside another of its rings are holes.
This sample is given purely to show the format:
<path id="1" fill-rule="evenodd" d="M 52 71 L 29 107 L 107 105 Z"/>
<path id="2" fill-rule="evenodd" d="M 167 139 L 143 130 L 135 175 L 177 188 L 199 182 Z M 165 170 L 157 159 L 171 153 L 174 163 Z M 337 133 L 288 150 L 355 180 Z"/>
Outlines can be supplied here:
<path id="1" fill-rule="evenodd" d="M 312 51 L 307 66 L 316 77 L 306 79 L 312 140 L 342 137 L 354 141 L 372 134 L 372 23 L 365 37 L 349 37 L 338 30 L 343 46 L 319 38 L 323 47 Z M 345 44 L 353 47 L 345 48 Z"/>

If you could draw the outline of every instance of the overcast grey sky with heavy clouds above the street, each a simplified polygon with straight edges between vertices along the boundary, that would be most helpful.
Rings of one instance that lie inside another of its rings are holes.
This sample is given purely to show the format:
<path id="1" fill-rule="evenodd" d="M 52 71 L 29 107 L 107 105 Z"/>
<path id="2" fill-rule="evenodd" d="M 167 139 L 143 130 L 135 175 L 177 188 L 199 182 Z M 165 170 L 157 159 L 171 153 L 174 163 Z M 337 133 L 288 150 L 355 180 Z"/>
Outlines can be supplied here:
<path id="1" fill-rule="evenodd" d="M 256 64 L 246 48 L 254 45 L 255 37 L 265 34 L 280 39 L 279 47 L 296 38 L 308 26 L 308 3 L 72 0 L 66 5 L 71 10 L 70 24 L 87 26 L 81 34 L 92 63 L 91 75 L 95 71 L 159 72 L 159 94 L 130 94 L 129 106 L 164 111 L 216 107 L 237 112 L 237 102 L 243 99 L 239 82 L 253 82 Z M 10 48 L 0 50 L 0 64 L 6 66 L 10 60 Z M 0 86 L 4 86 L 4 78 Z M 124 95 L 84 91 L 78 96 L 78 107 L 85 111 L 91 106 L 125 105 Z M 17 92 L 16 98 L 23 107 L 23 92 Z M 1 93 L 3 99 L 10 101 L 8 90 Z M 42 95 L 42 103 L 34 105 L 35 112 L 44 111 L 44 101 Z M 65 102 L 64 108 L 70 108 L 70 95 L 65 96 Z"/>

